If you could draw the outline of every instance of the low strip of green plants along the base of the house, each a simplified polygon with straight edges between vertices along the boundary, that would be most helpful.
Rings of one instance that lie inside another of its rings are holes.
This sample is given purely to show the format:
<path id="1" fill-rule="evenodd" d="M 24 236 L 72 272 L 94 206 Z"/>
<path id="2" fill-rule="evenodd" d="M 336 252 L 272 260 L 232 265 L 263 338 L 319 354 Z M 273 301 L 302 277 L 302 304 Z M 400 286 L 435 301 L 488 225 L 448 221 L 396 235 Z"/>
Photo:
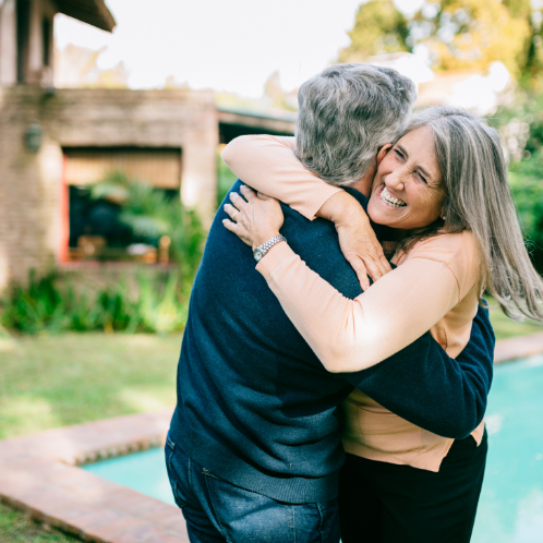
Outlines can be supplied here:
<path id="1" fill-rule="evenodd" d="M 0 323 L 23 334 L 75 330 L 182 330 L 189 311 L 191 280 L 179 270 L 141 270 L 134 286 L 128 279 L 113 286 L 83 289 L 57 272 L 26 286 L 14 285 L 0 304 Z"/>

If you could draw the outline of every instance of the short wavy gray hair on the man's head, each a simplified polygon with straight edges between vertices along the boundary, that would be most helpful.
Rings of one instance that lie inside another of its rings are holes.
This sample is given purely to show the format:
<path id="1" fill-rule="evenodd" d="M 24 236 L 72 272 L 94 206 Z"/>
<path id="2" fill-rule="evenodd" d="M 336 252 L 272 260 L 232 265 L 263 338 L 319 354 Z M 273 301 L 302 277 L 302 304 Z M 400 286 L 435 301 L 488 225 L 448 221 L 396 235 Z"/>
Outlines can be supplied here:
<path id="1" fill-rule="evenodd" d="M 391 68 L 327 68 L 298 93 L 294 153 L 328 183 L 355 183 L 403 132 L 415 98 L 414 83 Z"/>

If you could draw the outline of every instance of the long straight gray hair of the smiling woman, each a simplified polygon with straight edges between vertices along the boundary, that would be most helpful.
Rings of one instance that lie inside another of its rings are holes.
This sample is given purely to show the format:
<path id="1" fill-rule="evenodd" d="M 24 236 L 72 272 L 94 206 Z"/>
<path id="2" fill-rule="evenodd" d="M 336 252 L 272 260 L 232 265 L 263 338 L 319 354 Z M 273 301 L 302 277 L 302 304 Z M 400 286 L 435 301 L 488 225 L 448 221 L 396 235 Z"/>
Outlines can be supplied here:
<path id="1" fill-rule="evenodd" d="M 445 220 L 413 232 L 403 248 L 444 227 L 449 232 L 471 230 L 481 253 L 483 285 L 504 313 L 543 321 L 543 281 L 524 246 L 497 130 L 467 110 L 449 107 L 415 112 L 406 133 L 421 126 L 433 132 L 446 193 Z"/>

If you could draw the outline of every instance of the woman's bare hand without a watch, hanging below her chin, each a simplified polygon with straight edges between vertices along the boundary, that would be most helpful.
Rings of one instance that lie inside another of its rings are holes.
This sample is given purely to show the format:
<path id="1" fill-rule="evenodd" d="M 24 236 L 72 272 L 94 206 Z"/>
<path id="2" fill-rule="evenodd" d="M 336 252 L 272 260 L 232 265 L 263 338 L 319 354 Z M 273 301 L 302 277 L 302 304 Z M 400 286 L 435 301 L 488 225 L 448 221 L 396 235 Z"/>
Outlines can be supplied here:
<path id="1" fill-rule="evenodd" d="M 317 216 L 336 225 L 341 252 L 357 273 L 362 290 L 370 288 L 367 276 L 376 281 L 393 269 L 367 215 L 348 192 L 341 191 L 331 196 Z"/>

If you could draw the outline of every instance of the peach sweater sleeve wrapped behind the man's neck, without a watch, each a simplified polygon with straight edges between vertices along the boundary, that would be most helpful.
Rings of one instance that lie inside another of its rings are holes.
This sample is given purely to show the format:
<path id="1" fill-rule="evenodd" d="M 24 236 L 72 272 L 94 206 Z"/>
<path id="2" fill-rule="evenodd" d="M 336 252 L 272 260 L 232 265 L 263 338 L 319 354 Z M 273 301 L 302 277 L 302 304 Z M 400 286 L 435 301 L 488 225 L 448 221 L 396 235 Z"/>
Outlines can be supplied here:
<path id="1" fill-rule="evenodd" d="M 341 189 L 305 169 L 293 150 L 293 137 L 245 135 L 225 147 L 222 160 L 249 186 L 313 220 L 323 204 Z"/>

